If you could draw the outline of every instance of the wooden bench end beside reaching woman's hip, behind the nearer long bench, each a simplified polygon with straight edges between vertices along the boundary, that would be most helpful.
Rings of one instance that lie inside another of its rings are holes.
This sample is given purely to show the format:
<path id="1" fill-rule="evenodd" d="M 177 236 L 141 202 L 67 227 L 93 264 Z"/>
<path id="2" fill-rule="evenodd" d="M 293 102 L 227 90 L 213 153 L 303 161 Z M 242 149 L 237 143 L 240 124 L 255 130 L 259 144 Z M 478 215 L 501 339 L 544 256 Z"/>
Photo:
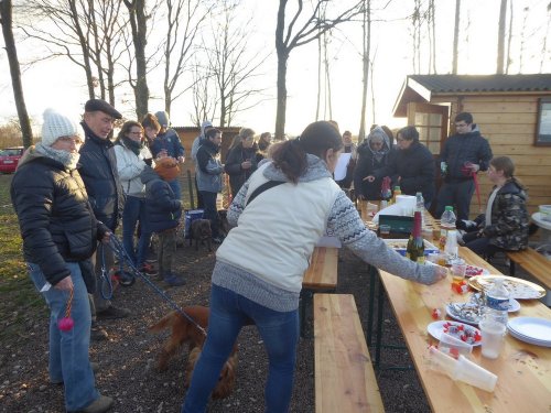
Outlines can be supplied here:
<path id="1" fill-rule="evenodd" d="M 315 247 L 310 267 L 304 272 L 303 289 L 336 289 L 338 248 Z"/>

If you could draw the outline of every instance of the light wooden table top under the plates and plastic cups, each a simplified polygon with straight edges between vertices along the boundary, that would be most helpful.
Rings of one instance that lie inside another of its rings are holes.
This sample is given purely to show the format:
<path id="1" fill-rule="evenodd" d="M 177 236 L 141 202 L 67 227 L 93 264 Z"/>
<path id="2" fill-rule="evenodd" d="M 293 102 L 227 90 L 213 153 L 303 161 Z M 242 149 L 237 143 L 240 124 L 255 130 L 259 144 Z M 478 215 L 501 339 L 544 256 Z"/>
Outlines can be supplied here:
<path id="1" fill-rule="evenodd" d="M 493 274 L 499 272 L 466 248 L 460 248 L 460 256 L 467 263 L 483 267 Z M 460 295 L 451 290 L 447 278 L 434 285 L 422 285 L 406 281 L 380 271 L 380 279 L 388 293 L 419 379 L 434 412 L 549 412 L 551 409 L 551 348 L 520 341 L 507 335 L 499 358 L 482 357 L 475 347 L 469 358 L 483 368 L 497 374 L 493 393 L 463 382 L 455 382 L 447 376 L 429 368 L 428 347 L 436 344 L 426 332 L 434 319 L 431 313 L 449 302 L 465 302 L 469 294 Z M 521 301 L 521 308 L 510 317 L 531 316 L 551 319 L 551 309 L 537 300 Z"/>

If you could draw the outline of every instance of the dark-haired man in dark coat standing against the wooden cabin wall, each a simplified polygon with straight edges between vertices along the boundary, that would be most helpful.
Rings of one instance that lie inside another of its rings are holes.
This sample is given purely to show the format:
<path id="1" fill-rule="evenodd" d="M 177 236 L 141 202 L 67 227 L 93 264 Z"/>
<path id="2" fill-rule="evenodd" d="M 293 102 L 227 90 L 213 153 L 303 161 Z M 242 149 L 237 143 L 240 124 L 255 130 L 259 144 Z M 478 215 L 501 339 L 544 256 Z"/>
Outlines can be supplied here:
<path id="1" fill-rule="evenodd" d="M 491 149 L 468 112 L 455 117 L 455 131 L 446 139 L 440 154 L 444 184 L 440 188 L 435 215 L 440 218 L 450 205 L 455 206 L 457 219 L 468 219 L 475 175 L 478 171 L 488 170 Z"/>

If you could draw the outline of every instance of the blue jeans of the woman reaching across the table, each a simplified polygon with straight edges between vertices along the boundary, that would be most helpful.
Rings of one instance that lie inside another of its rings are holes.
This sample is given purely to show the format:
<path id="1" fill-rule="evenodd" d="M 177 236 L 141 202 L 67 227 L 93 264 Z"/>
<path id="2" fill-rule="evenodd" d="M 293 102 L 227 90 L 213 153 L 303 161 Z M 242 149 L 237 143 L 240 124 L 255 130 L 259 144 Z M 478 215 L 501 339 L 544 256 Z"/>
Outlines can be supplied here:
<path id="1" fill-rule="evenodd" d="M 276 312 L 213 284 L 207 339 L 195 365 L 182 413 L 205 412 L 222 368 L 249 318 L 257 325 L 270 361 L 264 390 L 266 412 L 289 411 L 299 341 L 298 309 Z"/>

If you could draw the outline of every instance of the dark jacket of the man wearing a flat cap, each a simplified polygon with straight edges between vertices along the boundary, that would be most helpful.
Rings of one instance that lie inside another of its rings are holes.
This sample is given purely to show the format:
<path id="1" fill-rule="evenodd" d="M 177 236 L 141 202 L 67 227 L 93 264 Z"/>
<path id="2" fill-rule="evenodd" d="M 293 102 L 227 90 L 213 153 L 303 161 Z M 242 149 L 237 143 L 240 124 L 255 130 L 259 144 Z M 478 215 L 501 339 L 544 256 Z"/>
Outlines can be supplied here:
<path id="1" fill-rule="evenodd" d="M 119 224 L 125 207 L 125 193 L 117 172 L 117 157 L 111 141 L 100 139 L 84 122 L 86 141 L 80 148 L 80 176 L 96 218 L 111 231 Z"/>

